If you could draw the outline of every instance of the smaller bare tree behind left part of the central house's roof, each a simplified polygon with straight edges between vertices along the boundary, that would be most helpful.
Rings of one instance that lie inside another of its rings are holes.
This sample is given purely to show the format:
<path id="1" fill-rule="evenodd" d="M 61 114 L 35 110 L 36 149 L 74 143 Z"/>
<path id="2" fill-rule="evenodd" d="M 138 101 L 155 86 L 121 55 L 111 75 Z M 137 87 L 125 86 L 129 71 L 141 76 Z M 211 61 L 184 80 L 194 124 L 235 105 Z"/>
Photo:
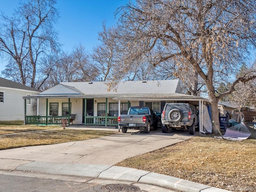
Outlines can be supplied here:
<path id="1" fill-rule="evenodd" d="M 92 64 L 81 44 L 74 47 L 71 53 L 61 52 L 46 57 L 43 63 L 40 72 L 48 77 L 40 82 L 43 90 L 60 82 L 95 81 L 98 78 L 98 69 Z"/>

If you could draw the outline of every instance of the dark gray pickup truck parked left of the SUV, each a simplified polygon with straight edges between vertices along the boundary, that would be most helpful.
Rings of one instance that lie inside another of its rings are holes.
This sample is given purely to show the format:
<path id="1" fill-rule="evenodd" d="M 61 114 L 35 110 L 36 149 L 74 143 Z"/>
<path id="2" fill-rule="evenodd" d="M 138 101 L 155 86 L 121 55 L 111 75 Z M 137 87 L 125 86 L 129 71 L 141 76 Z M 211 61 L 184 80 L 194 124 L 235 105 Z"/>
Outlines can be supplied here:
<path id="1" fill-rule="evenodd" d="M 131 107 L 127 115 L 118 116 L 118 125 L 123 133 L 126 133 L 127 129 L 144 129 L 145 133 L 149 133 L 150 126 L 153 126 L 154 130 L 158 129 L 158 118 L 149 107 Z"/>

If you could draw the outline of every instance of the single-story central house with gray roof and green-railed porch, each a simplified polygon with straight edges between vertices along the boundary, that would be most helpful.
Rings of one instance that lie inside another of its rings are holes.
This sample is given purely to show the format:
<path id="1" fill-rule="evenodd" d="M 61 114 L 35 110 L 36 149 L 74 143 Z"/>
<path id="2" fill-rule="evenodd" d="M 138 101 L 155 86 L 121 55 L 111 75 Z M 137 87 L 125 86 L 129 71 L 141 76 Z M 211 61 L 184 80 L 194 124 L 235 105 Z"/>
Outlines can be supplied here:
<path id="1" fill-rule="evenodd" d="M 161 113 L 166 102 L 190 102 L 200 106 L 206 99 L 180 94 L 179 80 L 119 82 L 110 90 L 106 82 L 62 82 L 37 95 L 38 116 L 26 116 L 25 123 L 59 124 L 76 114 L 74 124 L 117 126 L 119 114 L 130 106 L 149 106 Z"/>

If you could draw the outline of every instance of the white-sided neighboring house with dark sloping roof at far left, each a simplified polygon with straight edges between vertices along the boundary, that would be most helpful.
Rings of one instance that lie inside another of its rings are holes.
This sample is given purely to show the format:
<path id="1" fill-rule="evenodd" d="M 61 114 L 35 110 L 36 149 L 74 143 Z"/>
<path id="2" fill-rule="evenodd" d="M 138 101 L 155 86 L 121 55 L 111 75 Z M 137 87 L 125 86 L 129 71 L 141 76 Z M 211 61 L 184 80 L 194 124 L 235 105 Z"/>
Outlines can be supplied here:
<path id="1" fill-rule="evenodd" d="M 37 89 L 0 77 L 0 121 L 24 120 L 24 106 L 27 114 L 36 114 L 36 99 L 27 99 L 24 105 L 22 97 L 38 93 Z"/>

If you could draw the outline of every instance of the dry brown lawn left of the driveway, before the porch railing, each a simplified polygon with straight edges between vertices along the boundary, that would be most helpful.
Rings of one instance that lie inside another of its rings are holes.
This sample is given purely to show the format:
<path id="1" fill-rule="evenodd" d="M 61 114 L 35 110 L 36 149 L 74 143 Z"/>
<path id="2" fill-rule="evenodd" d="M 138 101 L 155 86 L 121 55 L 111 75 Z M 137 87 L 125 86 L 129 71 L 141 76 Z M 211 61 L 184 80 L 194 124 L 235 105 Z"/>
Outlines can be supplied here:
<path id="1" fill-rule="evenodd" d="M 61 126 L 2 125 L 0 126 L 0 150 L 88 140 L 114 133 L 112 131 L 63 129 Z"/>

